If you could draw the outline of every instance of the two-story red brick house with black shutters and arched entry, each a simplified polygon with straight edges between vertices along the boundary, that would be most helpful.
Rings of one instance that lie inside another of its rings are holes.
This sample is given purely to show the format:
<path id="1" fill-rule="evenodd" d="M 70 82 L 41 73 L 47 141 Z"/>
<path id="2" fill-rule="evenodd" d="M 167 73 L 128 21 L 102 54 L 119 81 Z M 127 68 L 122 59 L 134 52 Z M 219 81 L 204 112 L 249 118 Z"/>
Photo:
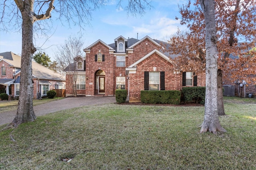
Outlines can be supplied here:
<path id="1" fill-rule="evenodd" d="M 86 57 L 76 57 L 66 71 L 66 96 L 72 96 L 74 80 L 68 68 L 76 64 L 77 95 L 114 96 L 116 89 L 128 91 L 129 102 L 140 101 L 141 90 L 181 90 L 182 86 L 205 86 L 205 74 L 175 71 L 163 53 L 165 43 L 146 36 L 141 40 L 114 39 L 107 45 L 98 40 L 84 49 Z"/>

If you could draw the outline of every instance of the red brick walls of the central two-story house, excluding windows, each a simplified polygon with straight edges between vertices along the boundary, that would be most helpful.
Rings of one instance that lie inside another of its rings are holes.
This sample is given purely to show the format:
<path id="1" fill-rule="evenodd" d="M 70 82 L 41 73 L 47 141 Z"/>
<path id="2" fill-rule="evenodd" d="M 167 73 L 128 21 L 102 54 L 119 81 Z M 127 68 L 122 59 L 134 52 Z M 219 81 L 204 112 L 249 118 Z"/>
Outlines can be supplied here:
<path id="1" fill-rule="evenodd" d="M 137 64 L 136 74 L 130 73 L 129 80 L 127 79 L 126 68 L 148 55 L 154 49 L 159 50 L 160 47 L 147 38 L 135 45 L 133 50 L 127 51 L 127 53 L 113 53 L 101 42 L 96 43 L 90 47 L 90 52 L 86 51 L 86 90 L 77 90 L 77 95 L 97 95 L 96 73 L 99 70 L 103 70 L 105 72 L 105 96 L 115 95 L 116 77 L 122 76 L 126 77 L 125 88 L 130 92 L 130 101 L 140 101 L 140 91 L 144 90 L 144 71 L 154 71 L 153 67 L 156 67 L 157 72 L 165 72 L 165 90 L 181 90 L 182 74 L 175 74 L 172 64 L 157 53 Z M 99 51 L 104 55 L 105 61 L 95 61 L 95 55 L 98 55 Z M 116 67 L 116 55 L 126 56 L 125 67 Z M 66 75 L 66 96 L 73 96 L 72 84 L 73 80 L 70 80 L 70 77 Z M 205 86 L 205 74 L 198 75 L 198 86 Z"/>

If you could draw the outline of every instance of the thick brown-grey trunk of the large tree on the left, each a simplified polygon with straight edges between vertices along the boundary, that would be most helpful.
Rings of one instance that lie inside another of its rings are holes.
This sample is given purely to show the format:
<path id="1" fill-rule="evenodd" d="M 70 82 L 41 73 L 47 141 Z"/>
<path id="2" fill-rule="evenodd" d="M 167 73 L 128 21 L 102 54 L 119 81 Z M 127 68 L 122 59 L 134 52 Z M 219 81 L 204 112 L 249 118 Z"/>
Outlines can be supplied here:
<path id="1" fill-rule="evenodd" d="M 33 45 L 33 1 L 24 1 L 22 13 L 22 54 L 20 74 L 20 97 L 17 114 L 12 121 L 13 126 L 20 123 L 34 121 L 36 115 L 33 110 L 33 80 L 32 58 L 36 51 Z M 28 5 L 29 4 L 29 5 Z"/>

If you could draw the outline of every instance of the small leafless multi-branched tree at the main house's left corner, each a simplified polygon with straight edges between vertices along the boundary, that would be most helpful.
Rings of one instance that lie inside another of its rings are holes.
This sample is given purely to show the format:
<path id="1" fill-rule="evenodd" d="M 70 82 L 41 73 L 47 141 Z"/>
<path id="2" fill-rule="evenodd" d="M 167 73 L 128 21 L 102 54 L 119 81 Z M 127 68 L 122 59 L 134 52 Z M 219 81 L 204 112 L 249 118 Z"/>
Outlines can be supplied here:
<path id="1" fill-rule="evenodd" d="M 82 36 L 75 37 L 69 36 L 65 40 L 63 45 L 58 47 L 59 51 L 55 54 L 55 59 L 62 68 L 62 71 L 67 72 L 66 76 L 69 76 L 69 80 L 72 80 L 72 91 L 76 96 L 76 81 L 78 75 L 78 57 L 82 56 Z M 74 84 L 73 84 L 74 83 Z"/>

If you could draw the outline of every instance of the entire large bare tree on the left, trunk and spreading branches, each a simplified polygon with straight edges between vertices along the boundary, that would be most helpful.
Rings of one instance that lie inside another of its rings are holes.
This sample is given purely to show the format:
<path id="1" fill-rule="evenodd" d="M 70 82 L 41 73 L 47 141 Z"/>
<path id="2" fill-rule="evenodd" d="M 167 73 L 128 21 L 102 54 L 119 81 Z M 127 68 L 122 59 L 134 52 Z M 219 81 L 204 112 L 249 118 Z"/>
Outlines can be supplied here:
<path id="1" fill-rule="evenodd" d="M 126 10 L 133 12 L 132 8 L 138 8 L 141 9 L 138 12 L 143 14 L 145 6 L 141 4 L 149 5 L 146 0 L 128 0 L 128 2 L 132 1 L 140 3 L 135 3 L 134 6 L 129 6 L 129 3 Z M 104 6 L 106 2 L 107 0 L 14 0 L 12 2 L 2 0 L 0 2 L 1 29 L 21 27 L 22 30 L 20 98 L 16 117 L 10 125 L 18 126 L 20 123 L 36 119 L 32 102 L 32 59 L 36 52 L 33 43 L 34 33 L 42 34 L 47 33 L 45 30 L 51 30 L 51 27 L 45 23 L 47 23 L 46 19 L 52 21 L 52 14 L 60 21 L 64 19 L 69 25 L 82 27 L 91 20 L 91 12 Z"/>

